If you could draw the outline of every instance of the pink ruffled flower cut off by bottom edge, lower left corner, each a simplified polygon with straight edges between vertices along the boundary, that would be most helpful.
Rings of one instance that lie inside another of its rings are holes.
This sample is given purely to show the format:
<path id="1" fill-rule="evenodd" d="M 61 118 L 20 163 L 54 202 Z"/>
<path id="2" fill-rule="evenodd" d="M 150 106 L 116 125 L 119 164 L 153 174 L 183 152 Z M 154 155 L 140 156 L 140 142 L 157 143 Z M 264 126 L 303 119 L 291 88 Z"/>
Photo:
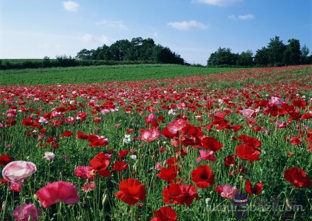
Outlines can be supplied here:
<path id="1" fill-rule="evenodd" d="M 13 216 L 15 218 L 15 221 L 28 221 L 29 217 L 32 218 L 33 221 L 37 221 L 38 216 L 40 216 L 42 213 L 41 209 L 36 209 L 34 203 L 23 203 L 22 205 L 22 211 L 20 214 L 20 205 L 16 207 L 16 209 L 13 212 Z"/>

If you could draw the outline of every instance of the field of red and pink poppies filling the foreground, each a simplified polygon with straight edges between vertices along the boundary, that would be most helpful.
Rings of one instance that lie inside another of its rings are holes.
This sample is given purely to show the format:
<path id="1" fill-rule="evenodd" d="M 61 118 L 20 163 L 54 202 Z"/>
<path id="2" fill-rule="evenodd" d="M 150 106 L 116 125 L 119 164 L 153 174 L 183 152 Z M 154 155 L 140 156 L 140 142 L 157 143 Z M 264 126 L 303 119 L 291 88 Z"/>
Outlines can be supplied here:
<path id="1" fill-rule="evenodd" d="M 312 219 L 312 66 L 52 83 L 0 85 L 1 221 Z"/>

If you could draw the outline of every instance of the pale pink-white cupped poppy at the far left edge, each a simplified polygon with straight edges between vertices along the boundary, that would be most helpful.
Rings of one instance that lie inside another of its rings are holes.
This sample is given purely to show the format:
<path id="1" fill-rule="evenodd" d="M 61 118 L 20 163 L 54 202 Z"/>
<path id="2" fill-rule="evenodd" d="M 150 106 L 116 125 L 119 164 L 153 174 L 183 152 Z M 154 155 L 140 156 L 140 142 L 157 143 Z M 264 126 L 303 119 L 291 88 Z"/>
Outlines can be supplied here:
<path id="1" fill-rule="evenodd" d="M 13 161 L 2 169 L 2 177 L 10 183 L 23 184 L 36 170 L 37 167 L 31 162 Z"/>

